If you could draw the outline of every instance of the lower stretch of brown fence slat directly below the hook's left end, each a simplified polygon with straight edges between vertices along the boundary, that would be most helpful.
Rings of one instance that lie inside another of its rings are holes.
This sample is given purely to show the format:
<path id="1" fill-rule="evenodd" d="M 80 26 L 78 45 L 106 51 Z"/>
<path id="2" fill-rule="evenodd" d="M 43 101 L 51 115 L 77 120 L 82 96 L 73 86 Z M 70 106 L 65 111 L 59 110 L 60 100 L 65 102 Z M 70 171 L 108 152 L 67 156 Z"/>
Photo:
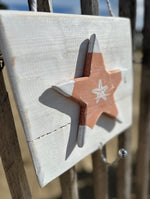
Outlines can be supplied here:
<path id="1" fill-rule="evenodd" d="M 108 169 L 101 158 L 100 150 L 92 154 L 92 162 L 95 199 L 106 199 L 108 197 Z"/>

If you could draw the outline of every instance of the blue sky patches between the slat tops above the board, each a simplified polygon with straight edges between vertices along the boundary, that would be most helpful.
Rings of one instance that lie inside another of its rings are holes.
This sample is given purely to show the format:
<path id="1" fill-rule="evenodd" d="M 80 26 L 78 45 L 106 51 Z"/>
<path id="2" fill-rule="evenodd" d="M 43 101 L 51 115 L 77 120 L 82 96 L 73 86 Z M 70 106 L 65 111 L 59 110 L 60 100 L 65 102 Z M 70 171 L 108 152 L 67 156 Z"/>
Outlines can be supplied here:
<path id="1" fill-rule="evenodd" d="M 0 0 L 11 10 L 28 10 L 28 0 Z M 118 15 L 118 0 L 110 0 L 114 14 Z M 80 14 L 80 0 L 52 0 L 55 13 Z M 106 0 L 100 0 L 100 15 L 108 16 Z M 137 29 L 143 26 L 143 0 L 137 0 Z"/>

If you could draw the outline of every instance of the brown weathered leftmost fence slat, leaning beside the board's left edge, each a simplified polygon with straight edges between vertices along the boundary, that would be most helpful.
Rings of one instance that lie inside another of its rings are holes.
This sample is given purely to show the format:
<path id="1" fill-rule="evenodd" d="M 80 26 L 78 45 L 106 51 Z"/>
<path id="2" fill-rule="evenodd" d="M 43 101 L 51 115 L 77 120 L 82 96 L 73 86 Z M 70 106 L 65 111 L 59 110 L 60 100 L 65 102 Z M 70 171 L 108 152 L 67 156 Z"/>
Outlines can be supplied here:
<path id="1" fill-rule="evenodd" d="M 31 193 L 2 71 L 0 72 L 0 155 L 12 198 L 30 199 Z"/>

